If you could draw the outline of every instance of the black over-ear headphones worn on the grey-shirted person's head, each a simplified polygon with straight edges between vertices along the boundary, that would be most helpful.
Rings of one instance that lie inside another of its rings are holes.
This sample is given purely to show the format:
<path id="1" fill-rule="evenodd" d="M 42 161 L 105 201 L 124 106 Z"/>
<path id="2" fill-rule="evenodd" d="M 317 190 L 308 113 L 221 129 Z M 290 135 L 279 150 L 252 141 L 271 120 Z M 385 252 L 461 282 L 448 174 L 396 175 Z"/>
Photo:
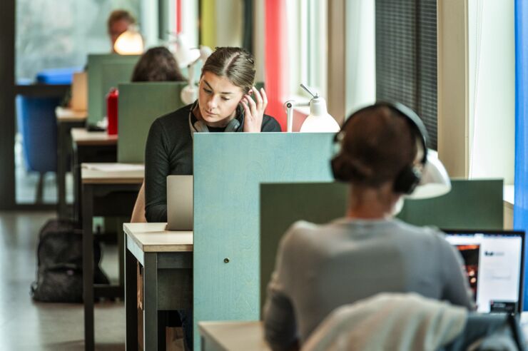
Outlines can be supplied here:
<path id="1" fill-rule="evenodd" d="M 354 119 L 355 116 L 358 114 L 373 110 L 375 108 L 379 107 L 387 107 L 390 108 L 391 111 L 397 113 L 398 115 L 405 118 L 405 120 L 408 122 L 412 134 L 420 140 L 420 143 L 422 144 L 423 149 L 423 157 L 420 160 L 420 163 L 422 163 L 422 166 L 425 166 L 425 163 L 427 162 L 427 129 L 425 128 L 424 123 L 418 117 L 418 115 L 415 113 L 415 111 L 412 111 L 412 109 L 408 108 L 407 106 L 403 105 L 402 103 L 388 103 L 388 102 L 377 102 L 372 106 L 367 106 L 365 108 L 361 108 L 360 110 L 356 111 L 355 113 L 352 113 L 352 116 L 350 116 L 347 121 L 342 125 L 341 130 L 335 134 L 334 137 L 334 150 L 336 151 L 335 156 L 332 158 L 332 173 L 334 175 L 334 178 L 336 180 L 340 180 L 342 182 L 350 182 L 350 173 L 347 172 L 347 170 L 344 169 L 342 166 L 343 164 L 346 164 L 346 162 L 342 162 L 343 156 L 342 155 L 342 141 L 345 138 L 345 130 L 348 123 L 350 123 L 350 120 Z M 341 165 L 341 166 L 338 166 Z M 415 166 L 414 164 L 410 163 L 409 165 L 405 166 L 400 173 L 396 176 L 395 183 L 394 183 L 394 190 L 396 193 L 404 193 L 404 194 L 410 194 L 413 190 L 415 190 L 416 185 L 420 183 L 420 178 L 422 178 L 422 171 L 420 167 Z"/>

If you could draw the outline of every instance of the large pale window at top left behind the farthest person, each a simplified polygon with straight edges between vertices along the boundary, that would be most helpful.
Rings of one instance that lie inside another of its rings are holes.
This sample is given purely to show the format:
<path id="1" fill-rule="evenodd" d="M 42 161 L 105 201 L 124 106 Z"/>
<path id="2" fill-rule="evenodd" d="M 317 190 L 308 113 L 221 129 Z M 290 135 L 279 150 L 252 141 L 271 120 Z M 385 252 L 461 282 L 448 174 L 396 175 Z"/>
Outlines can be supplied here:
<path id="1" fill-rule="evenodd" d="M 140 0 L 17 0 L 17 81 L 45 68 L 83 66 L 88 52 L 109 52 L 106 19 L 117 8 L 141 25 Z"/>

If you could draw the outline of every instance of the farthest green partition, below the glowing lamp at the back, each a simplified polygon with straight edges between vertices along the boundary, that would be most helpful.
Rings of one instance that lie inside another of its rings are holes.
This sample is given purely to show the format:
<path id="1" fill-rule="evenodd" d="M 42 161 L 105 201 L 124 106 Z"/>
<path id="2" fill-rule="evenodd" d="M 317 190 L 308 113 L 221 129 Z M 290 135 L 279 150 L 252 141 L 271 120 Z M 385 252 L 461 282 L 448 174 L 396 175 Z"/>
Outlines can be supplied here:
<path id="1" fill-rule="evenodd" d="M 131 80 L 138 58 L 138 55 L 88 55 L 88 123 L 97 123 L 106 116 L 106 94 L 118 83 Z"/>

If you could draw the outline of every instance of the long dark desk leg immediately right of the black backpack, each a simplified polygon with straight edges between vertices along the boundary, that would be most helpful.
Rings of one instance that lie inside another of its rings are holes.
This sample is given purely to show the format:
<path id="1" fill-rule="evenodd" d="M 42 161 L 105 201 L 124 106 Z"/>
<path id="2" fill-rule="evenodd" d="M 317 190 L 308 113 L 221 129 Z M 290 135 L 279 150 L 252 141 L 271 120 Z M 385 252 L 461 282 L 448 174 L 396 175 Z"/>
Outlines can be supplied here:
<path id="1" fill-rule="evenodd" d="M 83 186 L 83 299 L 84 299 L 84 348 L 94 349 L 93 331 L 93 188 Z"/>

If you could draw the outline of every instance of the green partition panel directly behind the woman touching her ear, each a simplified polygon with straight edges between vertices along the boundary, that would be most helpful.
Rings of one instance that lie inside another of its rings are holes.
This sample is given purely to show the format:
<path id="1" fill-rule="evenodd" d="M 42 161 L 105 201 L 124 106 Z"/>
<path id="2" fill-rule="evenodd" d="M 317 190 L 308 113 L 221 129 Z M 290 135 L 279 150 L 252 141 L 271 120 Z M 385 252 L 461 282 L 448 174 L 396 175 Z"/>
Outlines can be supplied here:
<path id="1" fill-rule="evenodd" d="M 119 84 L 118 162 L 145 162 L 145 143 L 152 122 L 185 106 L 180 98 L 184 86 L 185 82 Z"/>

